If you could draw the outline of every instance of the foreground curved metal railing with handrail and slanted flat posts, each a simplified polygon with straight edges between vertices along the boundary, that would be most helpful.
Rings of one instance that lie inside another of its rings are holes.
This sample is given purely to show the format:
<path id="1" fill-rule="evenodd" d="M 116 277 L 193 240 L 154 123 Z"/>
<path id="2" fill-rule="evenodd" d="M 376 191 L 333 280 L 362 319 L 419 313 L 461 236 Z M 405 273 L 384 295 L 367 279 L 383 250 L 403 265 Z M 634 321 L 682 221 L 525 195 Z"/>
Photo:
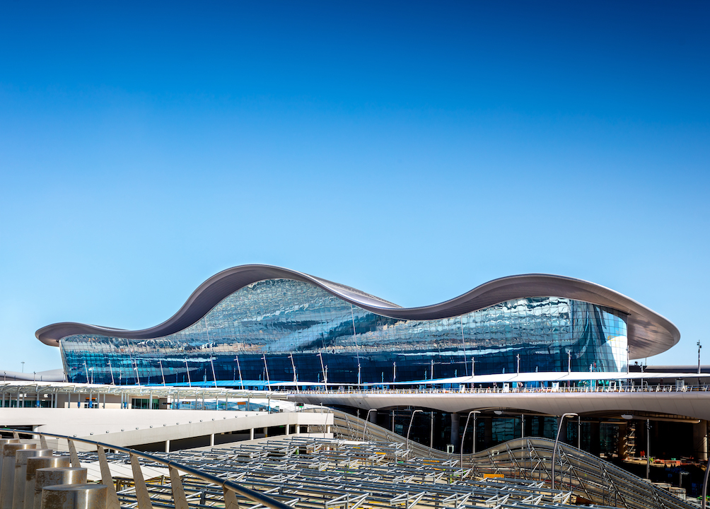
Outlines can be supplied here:
<path id="1" fill-rule="evenodd" d="M 239 508 L 239 502 L 236 496 L 240 498 L 246 498 L 254 503 L 261 504 L 270 509 L 290 509 L 290 505 L 286 505 L 283 502 L 275 500 L 269 496 L 264 495 L 258 491 L 246 488 L 245 486 L 240 486 L 234 481 L 229 481 L 228 479 L 219 478 L 211 474 L 206 474 L 200 470 L 192 468 L 191 466 L 183 465 L 177 463 L 176 461 L 170 461 L 168 459 L 163 459 L 158 456 L 153 456 L 153 454 L 148 454 L 142 451 L 136 451 L 135 449 L 129 449 L 126 447 L 117 447 L 112 444 L 107 444 L 104 442 L 98 442 L 96 440 L 89 440 L 83 438 L 67 437 L 62 434 L 45 433 L 45 432 L 28 432 L 21 429 L 11 429 L 11 428 L 0 428 L 0 432 L 11 432 L 14 437 L 19 437 L 21 434 L 28 435 L 38 435 L 40 437 L 40 443 L 43 448 L 46 448 L 46 437 L 52 437 L 57 439 L 67 440 L 70 458 L 72 466 L 80 467 L 79 456 L 77 454 L 75 442 L 82 444 L 89 444 L 97 448 L 97 454 L 99 456 L 99 466 L 101 468 L 102 474 L 102 484 L 109 488 L 109 496 L 107 509 L 120 509 L 119 498 L 116 493 L 116 486 L 114 485 L 113 478 L 111 477 L 111 471 L 109 469 L 109 463 L 106 457 L 106 449 L 113 449 L 114 451 L 120 451 L 129 455 L 131 460 L 131 469 L 133 470 L 133 483 L 136 487 L 136 498 L 138 500 L 138 509 L 153 509 L 151 503 L 151 498 L 148 494 L 148 487 L 146 486 L 146 481 L 143 478 L 143 472 L 141 471 L 141 464 L 138 458 L 143 458 L 148 461 L 153 461 L 157 464 L 168 467 L 170 471 L 170 486 L 173 492 L 173 500 L 175 503 L 175 509 L 187 509 L 187 498 L 185 497 L 185 490 L 182 486 L 182 481 L 180 481 L 180 471 L 185 472 L 185 474 L 190 474 L 195 478 L 201 479 L 207 483 L 212 483 L 217 486 L 222 487 L 224 494 L 224 507 L 225 509 L 237 509 Z"/>

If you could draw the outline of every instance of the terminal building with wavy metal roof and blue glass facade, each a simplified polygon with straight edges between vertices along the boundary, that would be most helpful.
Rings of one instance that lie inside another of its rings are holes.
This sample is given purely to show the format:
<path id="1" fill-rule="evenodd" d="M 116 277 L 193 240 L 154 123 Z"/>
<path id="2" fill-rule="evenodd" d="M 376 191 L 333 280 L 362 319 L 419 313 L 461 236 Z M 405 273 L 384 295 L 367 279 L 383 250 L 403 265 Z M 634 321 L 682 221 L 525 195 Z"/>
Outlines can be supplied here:
<path id="1" fill-rule="evenodd" d="M 618 292 L 558 275 L 515 275 L 405 308 L 273 266 L 238 266 L 170 319 L 127 331 L 64 322 L 38 330 L 67 381 L 120 385 L 437 383 L 462 376 L 623 372 L 680 339 Z"/>

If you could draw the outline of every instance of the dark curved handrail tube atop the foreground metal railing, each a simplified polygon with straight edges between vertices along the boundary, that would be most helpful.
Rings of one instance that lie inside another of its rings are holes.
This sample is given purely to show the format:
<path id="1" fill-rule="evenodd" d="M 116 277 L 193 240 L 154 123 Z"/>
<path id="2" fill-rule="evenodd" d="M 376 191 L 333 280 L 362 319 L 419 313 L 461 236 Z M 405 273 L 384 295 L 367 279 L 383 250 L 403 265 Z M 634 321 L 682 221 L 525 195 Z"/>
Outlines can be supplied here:
<path id="1" fill-rule="evenodd" d="M 273 498 L 263 495 L 263 493 L 259 493 L 258 491 L 252 490 L 250 488 L 245 488 L 244 486 L 240 486 L 239 484 L 235 483 L 234 481 L 229 481 L 228 479 L 223 479 L 223 478 L 219 478 L 217 476 L 212 476 L 211 474 L 205 474 L 204 472 L 193 469 L 190 466 L 177 463 L 176 461 L 166 461 L 165 459 L 160 458 L 158 456 L 153 456 L 153 454 L 148 454 L 148 453 L 142 452 L 142 451 L 136 451 L 136 449 L 129 449 L 127 447 L 119 447 L 116 445 L 107 444 L 106 442 L 98 442 L 97 440 L 89 440 L 89 439 L 77 438 L 77 437 L 67 437 L 67 435 L 63 435 L 63 434 L 45 433 L 45 432 L 37 432 L 37 431 L 29 432 L 25 429 L 12 429 L 12 428 L 5 428 L 5 427 L 0 428 L 0 431 L 17 433 L 17 434 L 29 434 L 29 435 L 37 434 L 37 435 L 44 436 L 44 437 L 66 439 L 68 442 L 82 442 L 84 444 L 101 446 L 101 447 L 104 447 L 105 449 L 114 449 L 114 451 L 121 451 L 126 454 L 129 454 L 129 457 L 131 455 L 138 456 L 143 459 L 155 461 L 155 463 L 161 464 L 163 466 L 167 466 L 169 469 L 173 468 L 173 469 L 181 470 L 187 474 L 190 474 L 193 477 L 202 479 L 202 481 L 207 481 L 208 483 L 216 484 L 217 486 L 222 486 L 223 489 L 228 489 L 229 491 L 234 491 L 234 493 L 237 493 L 238 495 L 249 498 L 249 500 L 253 500 L 253 502 L 265 505 L 266 507 L 268 507 L 270 509 L 293 509 L 290 507 L 290 505 L 286 505 L 283 502 L 279 502 L 278 500 L 274 500 Z"/>

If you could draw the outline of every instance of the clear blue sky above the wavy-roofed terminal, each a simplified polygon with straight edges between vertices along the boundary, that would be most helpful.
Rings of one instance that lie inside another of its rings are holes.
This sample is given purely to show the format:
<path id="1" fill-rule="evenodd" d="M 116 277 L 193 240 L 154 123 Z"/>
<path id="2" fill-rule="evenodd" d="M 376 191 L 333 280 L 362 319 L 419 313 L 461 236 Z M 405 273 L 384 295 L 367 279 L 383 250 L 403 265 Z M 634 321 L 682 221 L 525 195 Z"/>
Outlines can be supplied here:
<path id="1" fill-rule="evenodd" d="M 403 306 L 493 278 L 608 286 L 697 362 L 710 4 L 0 5 L 0 368 L 35 329 L 151 327 L 285 266 Z"/>

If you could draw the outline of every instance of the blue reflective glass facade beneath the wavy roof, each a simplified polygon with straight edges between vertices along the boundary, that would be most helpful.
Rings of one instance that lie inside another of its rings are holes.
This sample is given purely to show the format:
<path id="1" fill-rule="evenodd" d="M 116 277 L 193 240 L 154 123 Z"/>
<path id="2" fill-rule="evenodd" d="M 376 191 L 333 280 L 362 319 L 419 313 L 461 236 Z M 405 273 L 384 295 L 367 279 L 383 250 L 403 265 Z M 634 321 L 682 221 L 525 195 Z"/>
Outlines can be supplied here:
<path id="1" fill-rule="evenodd" d="M 71 382 L 247 386 L 413 382 L 515 371 L 625 371 L 626 318 L 560 297 L 434 320 L 384 317 L 309 283 L 237 290 L 169 336 L 60 341 Z M 294 375 L 295 370 L 295 375 Z"/>

